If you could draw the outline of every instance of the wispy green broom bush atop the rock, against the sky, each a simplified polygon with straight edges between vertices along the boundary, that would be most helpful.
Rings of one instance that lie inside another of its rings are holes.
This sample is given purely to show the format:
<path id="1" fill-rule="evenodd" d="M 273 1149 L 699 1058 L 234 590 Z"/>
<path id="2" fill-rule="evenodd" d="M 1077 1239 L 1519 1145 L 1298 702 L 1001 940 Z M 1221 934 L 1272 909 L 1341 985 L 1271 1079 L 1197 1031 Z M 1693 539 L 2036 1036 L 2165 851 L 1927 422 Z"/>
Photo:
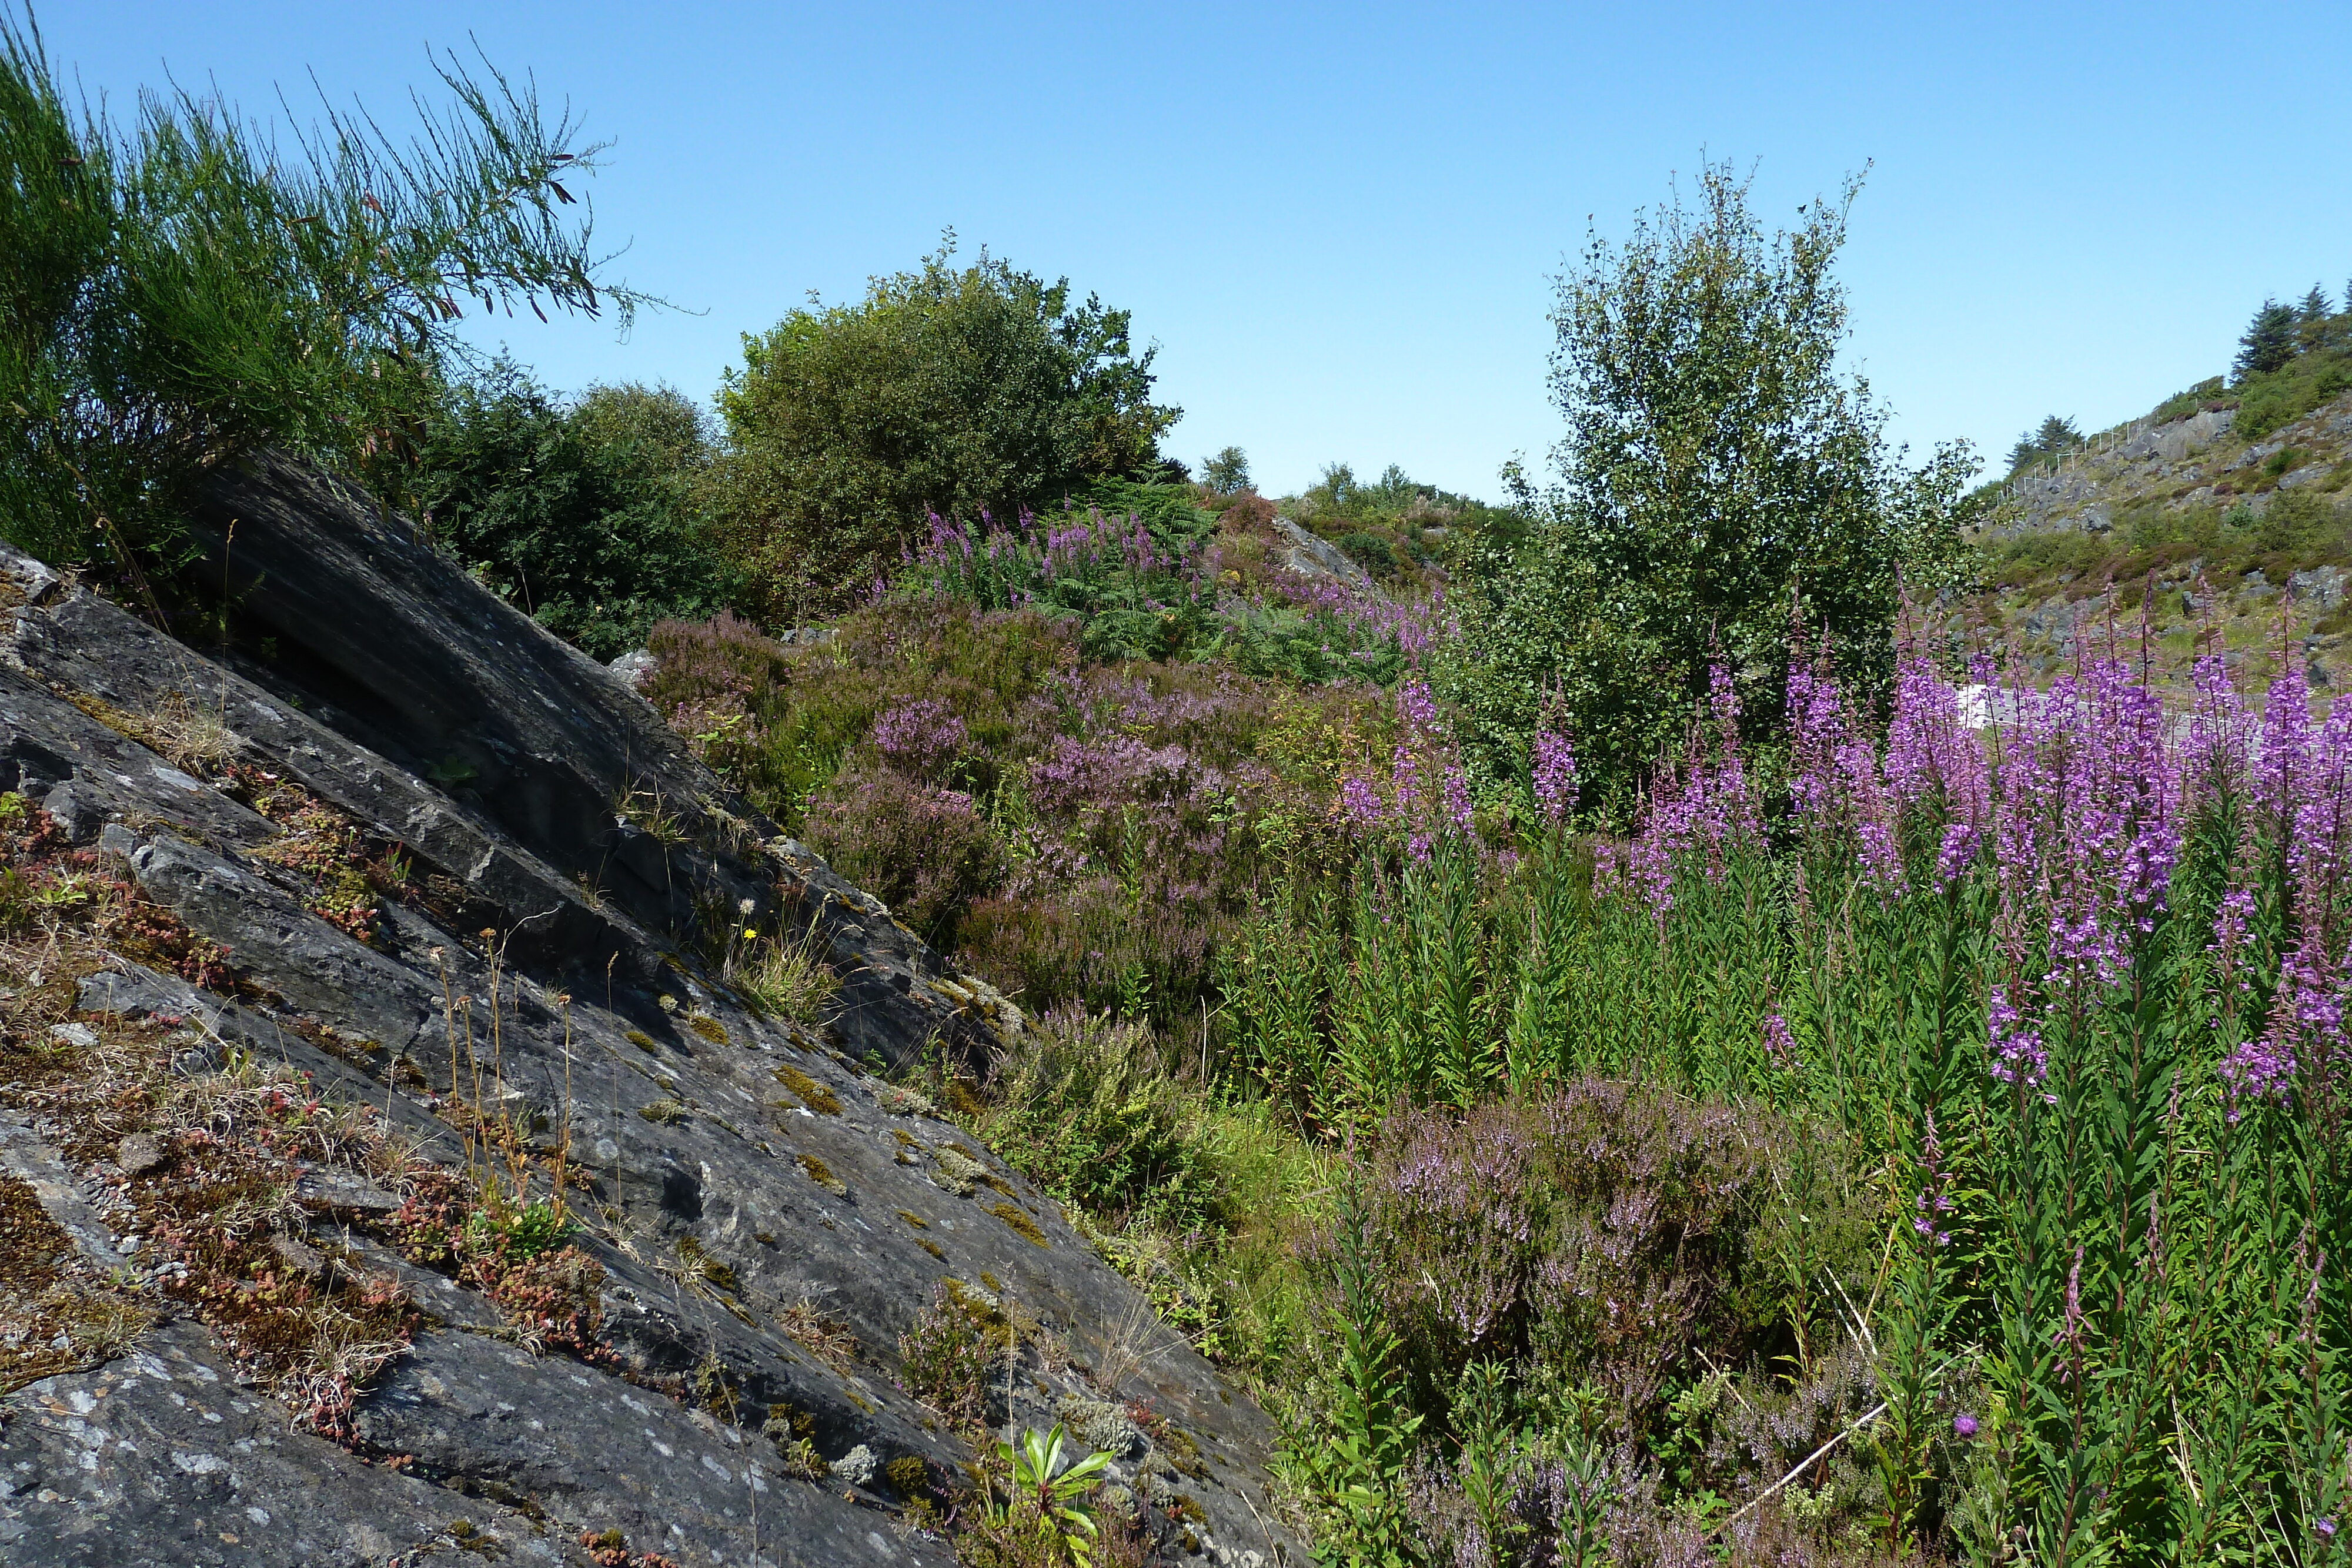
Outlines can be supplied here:
<path id="1" fill-rule="evenodd" d="M 327 113 L 270 146 L 216 96 L 71 108 L 0 14 L 0 529 L 146 588 L 212 465 L 282 447 L 397 491 L 456 322 L 560 308 L 623 322 L 595 282 L 595 167 L 569 120 L 489 71 L 440 68 L 412 143 Z M 569 212 L 567 212 L 569 209 Z"/>

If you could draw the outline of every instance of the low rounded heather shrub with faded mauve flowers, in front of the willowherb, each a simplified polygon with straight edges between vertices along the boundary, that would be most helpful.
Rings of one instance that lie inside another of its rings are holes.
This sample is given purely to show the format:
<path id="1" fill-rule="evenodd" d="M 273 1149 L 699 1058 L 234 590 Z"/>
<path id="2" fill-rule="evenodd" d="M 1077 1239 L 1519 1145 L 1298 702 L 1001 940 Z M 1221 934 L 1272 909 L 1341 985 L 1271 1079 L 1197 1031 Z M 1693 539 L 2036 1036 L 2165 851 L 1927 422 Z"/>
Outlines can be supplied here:
<path id="1" fill-rule="evenodd" d="M 1444 1418 L 1472 1361 L 1541 1363 L 1599 1401 L 1597 1432 L 1646 1436 L 1696 1356 L 1740 1366 L 1785 1335 L 1755 1232 L 1790 1138 L 1757 1105 L 1602 1077 L 1392 1117 L 1364 1213 L 1416 1406 Z"/>

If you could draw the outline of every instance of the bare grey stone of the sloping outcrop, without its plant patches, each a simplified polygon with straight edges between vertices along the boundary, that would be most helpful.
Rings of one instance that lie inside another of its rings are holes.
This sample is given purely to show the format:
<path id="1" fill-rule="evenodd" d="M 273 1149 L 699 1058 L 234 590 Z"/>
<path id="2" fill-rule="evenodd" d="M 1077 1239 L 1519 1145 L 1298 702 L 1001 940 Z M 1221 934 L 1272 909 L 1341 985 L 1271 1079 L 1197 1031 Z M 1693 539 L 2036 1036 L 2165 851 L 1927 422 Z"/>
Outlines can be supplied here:
<path id="1" fill-rule="evenodd" d="M 990 1048 L 1021 1027 L 1009 1004 L 400 517 L 263 461 L 221 480 L 205 543 L 238 651 L 0 552 L 0 788 L 230 976 L 207 990 L 113 957 L 40 1027 L 160 1020 L 188 1041 L 176 1074 L 282 1065 L 447 1168 L 473 1157 L 454 1110 L 470 1088 L 485 1114 L 494 1051 L 501 1124 L 576 1164 L 595 1345 L 543 1349 L 510 1305 L 386 1244 L 400 1192 L 320 1161 L 270 1244 L 423 1312 L 329 1441 L 174 1312 L 169 1255 L 127 1234 L 122 1192 L 169 1150 L 125 1138 L 78 1161 L 87 1128 L 19 1098 L 0 1197 L 31 1194 L 56 1267 L 148 1326 L 0 1401 L 0 1563 L 948 1563 L 908 1505 L 946 1507 L 974 1455 L 898 1387 L 901 1335 L 943 1293 L 1004 1335 L 988 1420 L 1108 1434 L 1160 1561 L 1303 1556 L 1270 1526 L 1272 1429 L 1247 1394 L 1054 1201 L 875 1077 Z M 219 773 L 294 780 L 400 846 L 414 896 L 358 933 L 320 912 L 292 830 L 165 755 L 191 715 Z M 699 957 L 741 926 L 814 929 L 842 978 L 818 1025 L 757 1011 Z M 14 1044 L 33 1025 L 9 1006 Z"/>

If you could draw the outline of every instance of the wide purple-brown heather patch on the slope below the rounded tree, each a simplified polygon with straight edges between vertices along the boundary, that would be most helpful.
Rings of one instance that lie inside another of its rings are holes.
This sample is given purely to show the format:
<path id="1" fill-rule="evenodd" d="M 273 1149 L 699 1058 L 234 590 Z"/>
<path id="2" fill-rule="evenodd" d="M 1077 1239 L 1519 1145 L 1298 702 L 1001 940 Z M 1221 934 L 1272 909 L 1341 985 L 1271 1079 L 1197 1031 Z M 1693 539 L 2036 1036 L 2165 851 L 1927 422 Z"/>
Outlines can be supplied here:
<path id="1" fill-rule="evenodd" d="M 1251 889 L 1345 860 L 1331 797 L 1383 726 L 1362 686 L 1094 665 L 1068 621 L 957 599 L 807 651 L 731 616 L 652 651 L 647 698 L 706 762 L 1023 1006 L 1190 1027 Z"/>

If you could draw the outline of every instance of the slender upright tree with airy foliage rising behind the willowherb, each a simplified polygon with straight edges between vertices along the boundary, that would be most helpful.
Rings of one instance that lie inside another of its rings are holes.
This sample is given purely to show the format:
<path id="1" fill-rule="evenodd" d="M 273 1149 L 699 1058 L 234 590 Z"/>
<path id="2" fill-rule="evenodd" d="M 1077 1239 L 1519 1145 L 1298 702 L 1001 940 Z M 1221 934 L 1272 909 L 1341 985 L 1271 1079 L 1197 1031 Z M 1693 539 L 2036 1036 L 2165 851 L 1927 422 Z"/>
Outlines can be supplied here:
<path id="1" fill-rule="evenodd" d="M 1870 388 L 1835 364 L 1846 301 L 1830 263 L 1853 193 L 1766 237 L 1748 181 L 1708 165 L 1696 209 L 1677 197 L 1621 247 L 1595 237 L 1559 280 L 1559 484 L 1522 494 L 1531 541 L 1489 550 L 1458 599 L 1456 689 L 1489 778 L 1524 766 L 1550 715 L 1623 799 L 1679 748 L 1710 663 L 1769 733 L 1792 614 L 1844 670 L 1877 677 L 1898 574 L 1957 574 L 1973 456 L 1950 447 L 1900 475 Z"/>

